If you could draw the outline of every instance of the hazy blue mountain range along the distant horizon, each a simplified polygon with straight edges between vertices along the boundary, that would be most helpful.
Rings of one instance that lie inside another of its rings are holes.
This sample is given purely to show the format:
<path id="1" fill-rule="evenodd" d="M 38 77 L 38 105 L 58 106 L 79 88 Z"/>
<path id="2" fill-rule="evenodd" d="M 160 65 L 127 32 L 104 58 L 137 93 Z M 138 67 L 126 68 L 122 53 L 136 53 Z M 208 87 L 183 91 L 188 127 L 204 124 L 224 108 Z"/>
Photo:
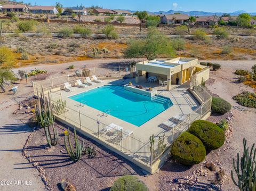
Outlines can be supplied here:
<path id="1" fill-rule="evenodd" d="M 131 11 L 129 10 L 130 12 L 134 13 L 136 11 Z M 156 12 L 149 12 L 149 14 L 174 14 L 174 13 L 180 13 L 180 14 L 188 14 L 189 16 L 210 16 L 210 15 L 218 15 L 218 16 L 221 16 L 223 13 L 222 12 L 204 12 L 204 11 L 174 11 L 174 10 L 169 10 L 169 11 L 156 11 Z M 241 13 L 247 13 L 246 11 L 235 11 L 235 12 L 231 12 L 231 13 L 228 13 L 230 14 L 231 16 L 236 16 L 236 15 L 239 15 Z M 256 15 L 256 12 L 255 13 L 249 13 L 250 15 Z"/>

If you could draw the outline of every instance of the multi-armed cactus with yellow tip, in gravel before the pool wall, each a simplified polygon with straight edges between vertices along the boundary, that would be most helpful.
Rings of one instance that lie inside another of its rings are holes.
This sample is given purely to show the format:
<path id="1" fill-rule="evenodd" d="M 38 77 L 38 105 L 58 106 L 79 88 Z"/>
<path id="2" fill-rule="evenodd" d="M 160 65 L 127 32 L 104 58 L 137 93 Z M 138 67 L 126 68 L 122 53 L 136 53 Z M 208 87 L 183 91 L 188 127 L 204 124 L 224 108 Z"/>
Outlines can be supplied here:
<path id="1" fill-rule="evenodd" d="M 74 127 L 75 146 L 76 146 L 75 151 L 71 144 L 69 128 L 68 130 L 64 131 L 64 135 L 65 135 L 65 148 L 66 148 L 66 151 L 68 152 L 70 159 L 73 160 L 74 162 L 79 161 L 79 159 L 82 156 L 82 151 L 84 149 L 84 142 L 82 144 L 79 143 L 76 137 L 76 127 Z M 69 151 L 67 142 L 69 144 L 70 151 Z"/>

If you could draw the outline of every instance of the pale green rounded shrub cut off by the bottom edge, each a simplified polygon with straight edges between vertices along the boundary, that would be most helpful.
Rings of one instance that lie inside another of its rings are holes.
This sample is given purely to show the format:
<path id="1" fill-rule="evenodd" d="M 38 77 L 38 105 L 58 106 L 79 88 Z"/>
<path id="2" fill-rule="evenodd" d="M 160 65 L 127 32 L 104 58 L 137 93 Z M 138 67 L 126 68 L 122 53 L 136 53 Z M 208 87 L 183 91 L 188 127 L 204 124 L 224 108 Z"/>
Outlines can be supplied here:
<path id="1" fill-rule="evenodd" d="M 139 190 L 147 191 L 148 187 L 135 176 L 127 175 L 121 178 L 118 178 L 114 184 L 111 186 L 110 191 L 119 191 L 119 190 Z"/>

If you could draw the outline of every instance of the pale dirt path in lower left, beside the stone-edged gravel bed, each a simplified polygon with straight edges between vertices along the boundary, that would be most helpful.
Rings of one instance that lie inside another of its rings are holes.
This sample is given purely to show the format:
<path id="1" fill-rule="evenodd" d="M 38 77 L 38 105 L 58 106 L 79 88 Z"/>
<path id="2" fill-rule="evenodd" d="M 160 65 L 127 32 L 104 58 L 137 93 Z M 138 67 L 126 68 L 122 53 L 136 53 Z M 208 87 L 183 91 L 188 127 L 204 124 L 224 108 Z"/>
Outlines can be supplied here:
<path id="1" fill-rule="evenodd" d="M 6 106 L 0 111 L 0 190 L 44 190 L 38 171 L 22 156 L 31 128 L 24 123 L 26 119 L 12 114 L 18 108 L 15 101 L 0 104 L 1 108 Z"/>

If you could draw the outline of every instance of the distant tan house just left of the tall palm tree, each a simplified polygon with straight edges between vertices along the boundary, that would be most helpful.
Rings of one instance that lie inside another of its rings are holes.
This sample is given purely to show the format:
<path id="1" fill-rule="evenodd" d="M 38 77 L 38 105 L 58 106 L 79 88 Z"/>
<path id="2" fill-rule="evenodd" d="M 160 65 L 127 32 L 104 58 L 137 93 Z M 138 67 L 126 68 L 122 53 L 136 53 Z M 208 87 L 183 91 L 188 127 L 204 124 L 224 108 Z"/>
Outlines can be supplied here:
<path id="1" fill-rule="evenodd" d="M 165 24 L 183 24 L 188 22 L 187 14 L 165 14 L 161 16 L 161 23 Z"/>

